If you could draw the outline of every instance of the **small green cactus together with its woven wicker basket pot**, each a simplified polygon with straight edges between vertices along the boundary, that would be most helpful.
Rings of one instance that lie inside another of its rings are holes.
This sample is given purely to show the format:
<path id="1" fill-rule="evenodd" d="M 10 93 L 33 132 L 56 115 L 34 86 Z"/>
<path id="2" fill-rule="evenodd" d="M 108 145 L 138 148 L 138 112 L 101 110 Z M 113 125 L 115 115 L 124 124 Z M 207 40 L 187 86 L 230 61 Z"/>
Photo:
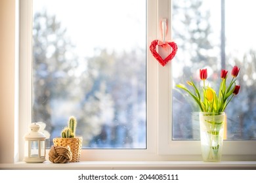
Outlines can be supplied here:
<path id="1" fill-rule="evenodd" d="M 79 162 L 81 156 L 82 137 L 75 136 L 77 121 L 74 116 L 68 120 L 68 126 L 64 127 L 61 137 L 54 138 L 54 146 L 70 146 L 72 152 L 72 160 L 70 162 Z"/>

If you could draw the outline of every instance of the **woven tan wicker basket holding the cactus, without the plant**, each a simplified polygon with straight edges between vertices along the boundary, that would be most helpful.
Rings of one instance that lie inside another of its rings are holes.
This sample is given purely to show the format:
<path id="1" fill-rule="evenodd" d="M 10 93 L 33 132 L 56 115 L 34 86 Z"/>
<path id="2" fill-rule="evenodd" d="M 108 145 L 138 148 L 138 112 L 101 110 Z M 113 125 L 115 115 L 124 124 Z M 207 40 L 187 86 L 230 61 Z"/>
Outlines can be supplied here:
<path id="1" fill-rule="evenodd" d="M 70 162 L 79 162 L 81 156 L 82 141 L 82 137 L 54 138 L 53 144 L 54 146 L 70 146 L 70 150 L 72 152 L 72 159 Z"/>

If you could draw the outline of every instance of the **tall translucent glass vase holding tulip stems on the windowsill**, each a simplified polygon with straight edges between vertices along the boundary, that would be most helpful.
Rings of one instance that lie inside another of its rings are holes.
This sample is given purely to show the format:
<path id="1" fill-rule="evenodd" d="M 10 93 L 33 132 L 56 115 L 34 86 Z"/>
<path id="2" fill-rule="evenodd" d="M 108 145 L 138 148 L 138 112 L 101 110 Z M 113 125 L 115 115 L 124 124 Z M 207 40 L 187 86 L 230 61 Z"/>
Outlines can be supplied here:
<path id="1" fill-rule="evenodd" d="M 200 112 L 199 116 L 203 161 L 221 161 L 225 113 Z"/>

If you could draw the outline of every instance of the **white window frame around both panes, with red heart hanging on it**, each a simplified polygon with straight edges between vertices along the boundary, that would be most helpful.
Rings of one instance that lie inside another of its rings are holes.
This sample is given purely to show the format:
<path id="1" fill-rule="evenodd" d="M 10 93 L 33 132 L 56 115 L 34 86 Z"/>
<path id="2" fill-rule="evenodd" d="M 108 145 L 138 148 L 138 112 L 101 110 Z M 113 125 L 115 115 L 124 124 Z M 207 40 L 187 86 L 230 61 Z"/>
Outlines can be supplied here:
<path id="1" fill-rule="evenodd" d="M 171 39 L 171 0 L 148 0 L 147 6 L 148 49 L 154 39 L 161 39 L 162 18 L 167 18 L 166 39 Z M 81 161 L 202 160 L 200 141 L 171 140 L 171 69 L 171 63 L 162 67 L 147 50 L 147 148 L 83 149 Z M 20 0 L 19 72 L 18 159 L 22 161 L 23 136 L 32 122 L 32 0 Z M 256 142 L 225 141 L 223 151 L 224 160 L 253 160 L 256 157 Z"/>

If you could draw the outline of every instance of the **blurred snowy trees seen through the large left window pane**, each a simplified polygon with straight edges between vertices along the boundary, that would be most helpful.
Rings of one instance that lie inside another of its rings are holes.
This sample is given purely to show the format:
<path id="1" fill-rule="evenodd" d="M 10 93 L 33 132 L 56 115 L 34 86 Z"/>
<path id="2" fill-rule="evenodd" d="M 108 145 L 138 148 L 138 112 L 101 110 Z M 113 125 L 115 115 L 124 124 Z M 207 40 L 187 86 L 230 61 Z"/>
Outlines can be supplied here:
<path id="1" fill-rule="evenodd" d="M 84 146 L 144 148 L 145 50 L 79 58 L 55 16 L 35 14 L 33 23 L 33 121 L 54 138 L 74 115 Z"/>

